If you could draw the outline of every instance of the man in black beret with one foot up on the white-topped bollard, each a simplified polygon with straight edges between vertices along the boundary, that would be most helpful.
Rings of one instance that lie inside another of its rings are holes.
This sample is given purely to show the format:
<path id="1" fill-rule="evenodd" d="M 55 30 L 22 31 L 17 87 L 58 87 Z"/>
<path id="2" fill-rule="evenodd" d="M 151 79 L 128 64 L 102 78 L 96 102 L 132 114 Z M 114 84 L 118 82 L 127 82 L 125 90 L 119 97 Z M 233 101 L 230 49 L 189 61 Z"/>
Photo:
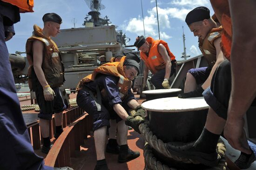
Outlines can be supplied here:
<path id="1" fill-rule="evenodd" d="M 208 67 L 190 69 L 187 73 L 184 93 L 178 97 L 200 97 L 209 87 L 217 66 L 224 60 L 220 47 L 222 26 L 216 26 L 207 7 L 196 7 L 187 14 L 185 21 L 194 36 L 198 37 L 199 48 L 208 62 Z"/>

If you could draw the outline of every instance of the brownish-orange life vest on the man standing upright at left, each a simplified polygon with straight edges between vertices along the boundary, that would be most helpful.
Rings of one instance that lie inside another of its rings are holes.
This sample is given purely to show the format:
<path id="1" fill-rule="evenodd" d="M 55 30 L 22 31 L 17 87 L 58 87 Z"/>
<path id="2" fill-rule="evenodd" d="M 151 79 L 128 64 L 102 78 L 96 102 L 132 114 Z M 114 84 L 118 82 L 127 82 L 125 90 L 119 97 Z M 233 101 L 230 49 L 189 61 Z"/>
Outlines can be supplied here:
<path id="1" fill-rule="evenodd" d="M 33 69 L 33 42 L 35 40 L 39 40 L 44 44 L 42 69 L 47 83 L 51 87 L 59 87 L 63 85 L 65 78 L 61 53 L 59 52 L 59 49 L 54 41 L 49 37 L 44 36 L 42 29 L 39 26 L 34 25 L 34 35 L 27 39 L 26 43 L 27 61 L 30 65 L 28 68 L 28 84 L 30 89 L 33 89 L 33 82 L 36 78 Z"/>

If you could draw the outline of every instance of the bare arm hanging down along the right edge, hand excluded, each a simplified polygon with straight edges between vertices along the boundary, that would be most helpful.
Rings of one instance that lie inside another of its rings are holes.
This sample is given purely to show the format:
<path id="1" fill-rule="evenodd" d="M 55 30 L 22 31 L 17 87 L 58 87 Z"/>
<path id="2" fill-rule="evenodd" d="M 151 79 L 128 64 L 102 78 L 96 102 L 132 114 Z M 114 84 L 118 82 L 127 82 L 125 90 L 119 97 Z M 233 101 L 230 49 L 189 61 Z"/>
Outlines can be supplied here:
<path id="1" fill-rule="evenodd" d="M 241 118 L 256 97 L 256 36 L 255 0 L 246 3 L 230 0 L 233 24 L 233 43 L 231 48 L 232 88 L 229 100 L 230 118 Z M 244 20 L 246 18 L 246 20 Z M 246 30 L 246 33 L 244 31 Z"/>

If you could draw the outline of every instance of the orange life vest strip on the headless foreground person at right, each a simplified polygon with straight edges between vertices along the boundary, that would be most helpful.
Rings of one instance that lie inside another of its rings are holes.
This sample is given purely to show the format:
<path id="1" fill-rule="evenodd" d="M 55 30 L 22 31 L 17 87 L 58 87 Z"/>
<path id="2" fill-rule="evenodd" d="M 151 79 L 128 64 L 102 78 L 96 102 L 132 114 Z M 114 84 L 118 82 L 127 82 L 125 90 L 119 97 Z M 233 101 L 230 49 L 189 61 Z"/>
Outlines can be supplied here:
<path id="1" fill-rule="evenodd" d="M 220 21 L 222 31 L 221 49 L 223 55 L 230 60 L 231 45 L 232 45 L 232 22 L 229 12 L 228 0 L 210 0 L 215 11 L 217 19 Z"/>

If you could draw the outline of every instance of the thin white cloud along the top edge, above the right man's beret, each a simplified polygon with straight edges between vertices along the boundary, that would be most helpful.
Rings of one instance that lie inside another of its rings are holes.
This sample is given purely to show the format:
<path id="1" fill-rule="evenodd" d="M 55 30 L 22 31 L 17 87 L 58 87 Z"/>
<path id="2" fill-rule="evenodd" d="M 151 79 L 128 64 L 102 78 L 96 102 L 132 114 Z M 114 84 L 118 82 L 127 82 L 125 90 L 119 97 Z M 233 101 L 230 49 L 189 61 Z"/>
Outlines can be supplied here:
<path id="1" fill-rule="evenodd" d="M 201 7 L 208 6 L 209 0 L 174 0 L 170 3 L 177 6 Z"/>

